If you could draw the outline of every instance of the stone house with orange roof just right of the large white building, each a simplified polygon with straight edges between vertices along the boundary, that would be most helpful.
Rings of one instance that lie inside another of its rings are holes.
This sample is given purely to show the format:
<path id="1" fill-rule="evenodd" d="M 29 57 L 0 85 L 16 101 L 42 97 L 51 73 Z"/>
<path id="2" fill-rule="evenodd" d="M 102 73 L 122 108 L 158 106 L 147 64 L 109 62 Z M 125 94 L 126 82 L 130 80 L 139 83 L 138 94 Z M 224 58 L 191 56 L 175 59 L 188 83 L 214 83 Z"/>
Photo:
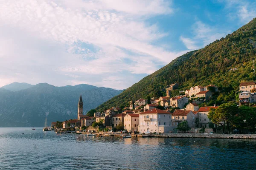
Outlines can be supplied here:
<path id="1" fill-rule="evenodd" d="M 179 125 L 181 122 L 187 121 L 189 127 L 195 127 L 197 117 L 198 115 L 192 111 L 176 109 L 174 112 L 172 112 L 172 126 L 177 127 L 177 125 Z"/>

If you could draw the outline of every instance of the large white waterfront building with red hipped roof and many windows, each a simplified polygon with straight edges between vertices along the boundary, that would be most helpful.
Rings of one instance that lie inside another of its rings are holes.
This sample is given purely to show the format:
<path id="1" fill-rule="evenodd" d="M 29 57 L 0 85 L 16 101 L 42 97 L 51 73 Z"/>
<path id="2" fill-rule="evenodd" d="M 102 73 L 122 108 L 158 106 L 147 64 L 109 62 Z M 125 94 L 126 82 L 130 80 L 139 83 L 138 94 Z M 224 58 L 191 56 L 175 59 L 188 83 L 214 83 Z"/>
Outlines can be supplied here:
<path id="1" fill-rule="evenodd" d="M 140 133 L 170 133 L 172 127 L 172 114 L 157 108 L 142 112 L 140 115 Z"/>

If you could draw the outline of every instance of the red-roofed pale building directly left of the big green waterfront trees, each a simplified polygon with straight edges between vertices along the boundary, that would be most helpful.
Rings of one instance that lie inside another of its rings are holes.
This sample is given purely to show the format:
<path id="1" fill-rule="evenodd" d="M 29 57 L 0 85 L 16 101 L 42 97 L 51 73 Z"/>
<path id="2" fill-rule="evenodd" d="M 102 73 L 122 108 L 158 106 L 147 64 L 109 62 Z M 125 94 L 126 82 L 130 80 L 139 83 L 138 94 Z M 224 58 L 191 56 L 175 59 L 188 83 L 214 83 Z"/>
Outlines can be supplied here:
<path id="1" fill-rule="evenodd" d="M 208 118 L 208 114 L 210 109 L 216 109 L 218 108 L 218 106 L 207 106 L 207 107 L 201 107 L 198 110 L 198 125 L 199 127 L 209 127 L 209 118 Z"/>

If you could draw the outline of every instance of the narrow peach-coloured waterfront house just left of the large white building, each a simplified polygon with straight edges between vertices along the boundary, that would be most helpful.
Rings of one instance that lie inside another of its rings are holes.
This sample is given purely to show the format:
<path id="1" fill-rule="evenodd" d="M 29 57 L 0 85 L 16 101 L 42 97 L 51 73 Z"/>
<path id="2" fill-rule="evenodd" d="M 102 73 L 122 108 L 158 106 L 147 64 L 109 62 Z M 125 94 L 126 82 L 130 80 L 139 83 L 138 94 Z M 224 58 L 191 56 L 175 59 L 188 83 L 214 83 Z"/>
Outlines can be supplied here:
<path id="1" fill-rule="evenodd" d="M 128 132 L 138 131 L 139 114 L 127 113 L 124 116 L 124 128 Z"/>

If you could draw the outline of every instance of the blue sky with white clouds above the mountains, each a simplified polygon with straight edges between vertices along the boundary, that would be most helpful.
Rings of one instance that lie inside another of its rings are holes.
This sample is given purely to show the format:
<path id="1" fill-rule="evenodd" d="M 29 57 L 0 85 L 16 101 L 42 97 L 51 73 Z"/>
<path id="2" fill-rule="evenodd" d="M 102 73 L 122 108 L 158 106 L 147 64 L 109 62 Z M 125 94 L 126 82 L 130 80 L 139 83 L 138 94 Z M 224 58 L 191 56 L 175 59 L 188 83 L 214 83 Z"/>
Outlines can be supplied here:
<path id="1" fill-rule="evenodd" d="M 256 17 L 255 0 L 0 0 L 0 87 L 126 89 Z"/>

